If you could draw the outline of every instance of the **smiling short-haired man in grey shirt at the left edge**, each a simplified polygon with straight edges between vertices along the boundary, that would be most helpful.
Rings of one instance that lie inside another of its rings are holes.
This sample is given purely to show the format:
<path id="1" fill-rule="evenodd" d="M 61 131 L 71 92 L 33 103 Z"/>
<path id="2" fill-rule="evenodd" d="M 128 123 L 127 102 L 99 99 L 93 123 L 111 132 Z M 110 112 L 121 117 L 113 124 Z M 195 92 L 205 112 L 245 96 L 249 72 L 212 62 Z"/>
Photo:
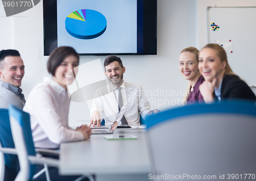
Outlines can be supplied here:
<path id="1" fill-rule="evenodd" d="M 25 74 L 24 63 L 15 49 L 0 51 L 0 108 L 9 105 L 23 109 L 25 98 L 22 94 L 22 79 Z"/>

